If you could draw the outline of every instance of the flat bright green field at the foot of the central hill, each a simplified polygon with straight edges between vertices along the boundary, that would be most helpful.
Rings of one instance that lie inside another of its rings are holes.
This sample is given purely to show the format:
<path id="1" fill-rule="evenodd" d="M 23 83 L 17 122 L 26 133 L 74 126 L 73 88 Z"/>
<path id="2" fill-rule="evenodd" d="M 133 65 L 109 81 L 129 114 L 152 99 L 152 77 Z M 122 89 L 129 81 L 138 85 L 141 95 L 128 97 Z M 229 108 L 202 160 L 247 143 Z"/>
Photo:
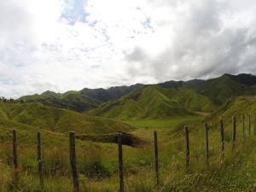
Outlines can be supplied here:
<path id="1" fill-rule="evenodd" d="M 204 116 L 187 116 L 173 119 L 143 119 L 143 120 L 125 120 L 125 123 L 143 128 L 171 128 L 184 121 L 202 119 Z"/>

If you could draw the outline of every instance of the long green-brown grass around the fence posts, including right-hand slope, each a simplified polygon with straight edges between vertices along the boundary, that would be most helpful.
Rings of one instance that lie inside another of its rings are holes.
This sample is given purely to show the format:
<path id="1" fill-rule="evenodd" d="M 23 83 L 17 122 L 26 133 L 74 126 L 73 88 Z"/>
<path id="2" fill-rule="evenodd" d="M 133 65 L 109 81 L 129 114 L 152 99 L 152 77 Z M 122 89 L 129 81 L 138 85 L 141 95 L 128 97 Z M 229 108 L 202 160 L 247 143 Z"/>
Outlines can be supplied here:
<path id="1" fill-rule="evenodd" d="M 253 113 L 256 98 L 237 98 L 207 116 L 209 160 L 206 164 L 202 116 L 164 121 L 137 121 L 141 128 L 131 134 L 147 138 L 136 148 L 123 146 L 125 191 L 255 191 L 256 137 L 241 139 L 237 120 L 236 148 L 231 148 L 231 115 Z M 3 115 L 4 116 L 4 115 Z M 225 154 L 220 154 L 218 119 L 224 119 Z M 185 167 L 183 123 L 189 125 L 190 166 Z M 56 135 L 31 125 L 0 118 L 0 190 L 42 191 L 38 180 L 36 132 L 42 131 L 44 191 L 73 191 L 69 165 L 69 143 L 65 135 Z M 136 122 L 136 121 L 135 121 Z M 217 122 L 217 123 L 215 123 Z M 252 121 L 253 122 L 253 121 Z M 150 128 L 144 128 L 150 125 Z M 247 126 L 247 125 L 246 125 Z M 12 165 L 11 130 L 18 130 L 19 179 Z M 160 185 L 154 186 L 153 129 L 158 131 Z M 253 124 L 252 124 L 253 129 Z M 77 167 L 81 191 L 118 191 L 118 150 L 114 143 L 76 140 Z"/>

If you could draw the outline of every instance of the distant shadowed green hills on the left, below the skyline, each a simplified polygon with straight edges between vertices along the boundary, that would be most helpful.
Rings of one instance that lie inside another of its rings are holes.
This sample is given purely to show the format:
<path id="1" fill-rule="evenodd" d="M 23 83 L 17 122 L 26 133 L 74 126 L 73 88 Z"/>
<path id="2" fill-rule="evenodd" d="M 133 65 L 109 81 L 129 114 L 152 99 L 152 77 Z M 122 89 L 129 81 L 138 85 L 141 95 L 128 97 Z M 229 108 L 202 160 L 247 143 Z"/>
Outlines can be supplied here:
<path id="1" fill-rule="evenodd" d="M 125 96 L 131 90 L 141 87 L 143 84 L 134 84 L 131 86 L 111 87 L 105 89 L 87 89 L 74 91 L 70 90 L 63 94 L 53 91 L 45 91 L 41 95 L 34 94 L 32 96 L 21 96 L 18 102 L 41 102 L 46 106 L 55 108 L 66 108 L 77 112 L 90 110 L 98 107 L 102 102 Z"/>

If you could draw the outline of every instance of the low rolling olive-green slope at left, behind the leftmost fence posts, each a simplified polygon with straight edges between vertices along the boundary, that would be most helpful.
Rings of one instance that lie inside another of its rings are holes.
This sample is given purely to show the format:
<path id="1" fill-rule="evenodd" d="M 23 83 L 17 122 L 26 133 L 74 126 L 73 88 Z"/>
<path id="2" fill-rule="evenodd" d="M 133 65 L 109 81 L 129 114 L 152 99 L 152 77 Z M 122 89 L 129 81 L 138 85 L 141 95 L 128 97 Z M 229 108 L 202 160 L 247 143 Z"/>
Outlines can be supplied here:
<path id="1" fill-rule="evenodd" d="M 133 129 L 114 119 L 90 117 L 41 103 L 0 103 L 0 118 L 58 133 L 103 134 Z"/>

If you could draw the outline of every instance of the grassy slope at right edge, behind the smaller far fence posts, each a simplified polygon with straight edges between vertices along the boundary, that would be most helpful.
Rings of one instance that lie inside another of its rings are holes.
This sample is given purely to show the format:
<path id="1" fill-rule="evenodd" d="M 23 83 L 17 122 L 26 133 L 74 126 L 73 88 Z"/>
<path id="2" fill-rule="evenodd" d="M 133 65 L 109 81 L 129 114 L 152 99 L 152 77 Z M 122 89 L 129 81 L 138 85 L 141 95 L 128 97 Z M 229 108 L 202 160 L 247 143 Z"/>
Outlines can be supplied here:
<path id="1" fill-rule="evenodd" d="M 237 137 L 241 139 L 241 117 L 245 118 L 246 135 L 248 135 L 248 115 L 251 119 L 251 134 L 253 134 L 254 127 L 254 113 L 256 112 L 256 96 L 236 96 L 232 97 L 229 101 L 210 113 L 203 121 L 206 121 L 212 133 L 219 137 L 219 120 L 223 119 L 226 139 L 230 141 L 232 132 L 232 116 L 236 116 Z M 256 114 L 256 113 L 255 113 Z M 183 122 L 171 131 L 172 133 L 183 134 L 184 125 L 188 125 L 190 131 L 196 135 L 203 135 L 203 121 L 195 121 L 193 123 Z M 256 121 L 255 121 L 256 122 Z"/>

